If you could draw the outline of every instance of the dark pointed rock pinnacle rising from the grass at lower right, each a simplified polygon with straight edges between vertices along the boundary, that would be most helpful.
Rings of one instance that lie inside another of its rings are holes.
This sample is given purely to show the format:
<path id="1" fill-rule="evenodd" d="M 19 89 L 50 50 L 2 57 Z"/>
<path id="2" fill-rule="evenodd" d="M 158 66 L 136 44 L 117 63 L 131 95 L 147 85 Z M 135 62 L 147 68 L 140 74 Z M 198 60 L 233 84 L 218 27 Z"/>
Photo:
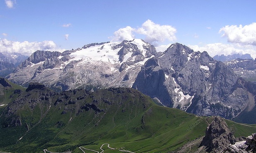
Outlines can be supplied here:
<path id="1" fill-rule="evenodd" d="M 219 116 L 207 127 L 205 137 L 200 146 L 205 146 L 207 152 L 219 153 L 229 144 L 234 144 L 236 139 L 229 130 L 227 123 Z"/>

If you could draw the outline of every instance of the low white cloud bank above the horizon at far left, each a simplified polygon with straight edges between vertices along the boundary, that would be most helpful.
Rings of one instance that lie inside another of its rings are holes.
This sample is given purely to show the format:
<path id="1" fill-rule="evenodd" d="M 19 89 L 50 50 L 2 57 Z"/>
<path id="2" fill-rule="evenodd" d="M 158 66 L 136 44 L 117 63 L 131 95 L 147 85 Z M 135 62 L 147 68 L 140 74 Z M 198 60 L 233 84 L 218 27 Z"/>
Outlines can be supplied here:
<path id="1" fill-rule="evenodd" d="M 30 56 L 37 50 L 64 51 L 56 48 L 56 44 L 53 41 L 19 42 L 0 39 L 0 53 L 20 53 L 22 55 Z"/>

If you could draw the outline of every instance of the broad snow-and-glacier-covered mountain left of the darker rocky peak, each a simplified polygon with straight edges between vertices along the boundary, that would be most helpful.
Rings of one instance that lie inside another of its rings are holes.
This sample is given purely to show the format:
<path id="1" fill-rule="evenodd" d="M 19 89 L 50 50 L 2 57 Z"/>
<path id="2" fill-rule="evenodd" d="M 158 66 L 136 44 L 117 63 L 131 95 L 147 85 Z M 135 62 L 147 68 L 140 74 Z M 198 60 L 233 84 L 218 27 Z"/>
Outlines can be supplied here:
<path id="1" fill-rule="evenodd" d="M 23 86 L 37 81 L 59 91 L 132 87 L 140 67 L 156 54 L 141 39 L 91 43 L 63 53 L 37 50 L 7 78 Z"/>

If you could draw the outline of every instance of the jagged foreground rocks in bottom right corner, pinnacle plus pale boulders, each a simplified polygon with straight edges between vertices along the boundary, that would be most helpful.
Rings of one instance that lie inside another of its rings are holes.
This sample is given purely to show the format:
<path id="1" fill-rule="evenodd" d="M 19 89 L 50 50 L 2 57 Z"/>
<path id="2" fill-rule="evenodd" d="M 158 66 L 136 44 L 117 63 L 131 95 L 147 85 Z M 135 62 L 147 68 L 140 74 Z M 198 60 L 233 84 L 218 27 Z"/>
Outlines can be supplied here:
<path id="1" fill-rule="evenodd" d="M 223 118 L 217 116 L 207 127 L 198 152 L 255 153 L 256 133 L 235 138 Z"/>

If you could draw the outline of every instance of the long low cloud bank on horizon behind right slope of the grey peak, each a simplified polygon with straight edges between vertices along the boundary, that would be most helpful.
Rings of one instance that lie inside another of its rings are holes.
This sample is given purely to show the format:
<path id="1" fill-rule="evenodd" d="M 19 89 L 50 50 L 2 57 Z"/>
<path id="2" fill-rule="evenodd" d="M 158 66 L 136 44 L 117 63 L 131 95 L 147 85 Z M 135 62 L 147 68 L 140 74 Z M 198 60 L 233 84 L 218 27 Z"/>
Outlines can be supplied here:
<path id="1" fill-rule="evenodd" d="M 256 48 L 246 46 L 241 47 L 239 45 L 233 44 L 223 44 L 223 43 L 211 43 L 205 46 L 198 45 L 188 45 L 194 51 L 207 51 L 207 53 L 213 57 L 215 55 L 233 55 L 233 54 L 251 54 L 251 57 L 256 58 Z"/>

